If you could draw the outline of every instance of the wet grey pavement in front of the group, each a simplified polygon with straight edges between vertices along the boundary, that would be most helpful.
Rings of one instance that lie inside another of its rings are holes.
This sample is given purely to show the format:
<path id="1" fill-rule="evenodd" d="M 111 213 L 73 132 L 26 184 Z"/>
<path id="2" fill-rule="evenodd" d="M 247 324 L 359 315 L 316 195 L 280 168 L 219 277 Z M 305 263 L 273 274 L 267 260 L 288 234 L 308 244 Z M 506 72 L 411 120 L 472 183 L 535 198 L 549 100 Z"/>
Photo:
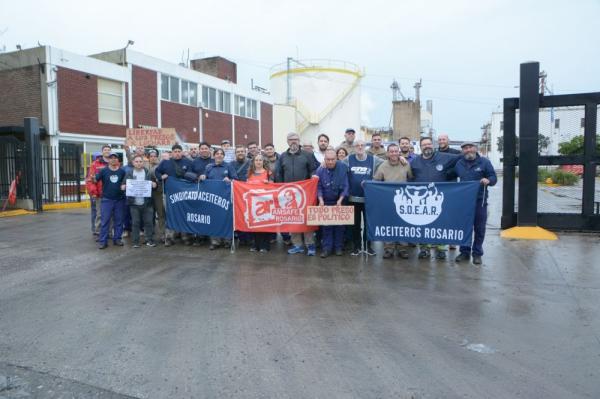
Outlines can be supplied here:
<path id="1" fill-rule="evenodd" d="M 598 398 L 598 243 L 492 230 L 475 267 L 99 251 L 85 210 L 0 219 L 0 398 Z"/>

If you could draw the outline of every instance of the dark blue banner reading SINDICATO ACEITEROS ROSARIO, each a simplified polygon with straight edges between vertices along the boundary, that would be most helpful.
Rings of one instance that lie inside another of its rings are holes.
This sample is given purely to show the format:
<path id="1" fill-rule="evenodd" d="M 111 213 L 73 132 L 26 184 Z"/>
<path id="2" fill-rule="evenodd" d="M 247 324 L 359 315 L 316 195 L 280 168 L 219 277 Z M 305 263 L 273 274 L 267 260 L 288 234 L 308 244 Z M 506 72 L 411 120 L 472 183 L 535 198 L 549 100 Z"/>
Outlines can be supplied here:
<path id="1" fill-rule="evenodd" d="M 231 183 L 222 180 L 190 183 L 169 177 L 165 183 L 165 202 L 169 229 L 232 238 Z"/>

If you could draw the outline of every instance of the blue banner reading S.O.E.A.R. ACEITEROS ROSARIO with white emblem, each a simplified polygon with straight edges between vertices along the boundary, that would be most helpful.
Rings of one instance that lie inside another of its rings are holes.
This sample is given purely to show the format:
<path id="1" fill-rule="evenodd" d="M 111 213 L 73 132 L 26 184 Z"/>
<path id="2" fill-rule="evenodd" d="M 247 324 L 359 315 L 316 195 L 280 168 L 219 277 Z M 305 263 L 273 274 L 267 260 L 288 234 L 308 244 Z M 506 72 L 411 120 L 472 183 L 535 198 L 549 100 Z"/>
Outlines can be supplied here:
<path id="1" fill-rule="evenodd" d="M 365 183 L 369 240 L 471 245 L 479 182 Z"/>

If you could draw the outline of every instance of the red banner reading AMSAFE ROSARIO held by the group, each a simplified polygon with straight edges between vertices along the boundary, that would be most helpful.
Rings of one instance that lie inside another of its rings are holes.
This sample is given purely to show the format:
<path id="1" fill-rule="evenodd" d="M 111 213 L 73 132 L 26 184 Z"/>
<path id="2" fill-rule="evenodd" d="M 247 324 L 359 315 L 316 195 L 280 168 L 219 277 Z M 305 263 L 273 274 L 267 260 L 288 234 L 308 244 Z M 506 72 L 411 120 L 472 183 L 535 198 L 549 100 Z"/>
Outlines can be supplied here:
<path id="1" fill-rule="evenodd" d="M 317 202 L 317 179 L 294 183 L 233 182 L 235 230 L 265 233 L 304 233 L 306 207 Z"/>

